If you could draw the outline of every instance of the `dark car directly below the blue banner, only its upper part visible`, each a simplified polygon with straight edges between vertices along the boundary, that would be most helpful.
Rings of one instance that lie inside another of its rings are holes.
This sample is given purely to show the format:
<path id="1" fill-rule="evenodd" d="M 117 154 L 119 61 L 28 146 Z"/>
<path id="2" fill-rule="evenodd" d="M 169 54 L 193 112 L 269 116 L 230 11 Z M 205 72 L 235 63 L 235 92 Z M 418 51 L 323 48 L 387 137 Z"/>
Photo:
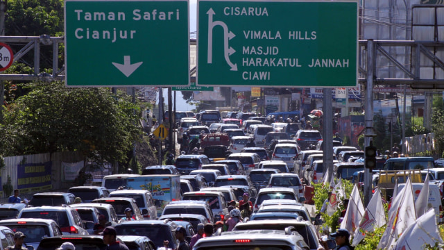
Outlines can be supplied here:
<path id="1" fill-rule="evenodd" d="M 40 192 L 33 194 L 29 206 L 62 206 L 74 203 L 74 194 L 65 192 Z"/>

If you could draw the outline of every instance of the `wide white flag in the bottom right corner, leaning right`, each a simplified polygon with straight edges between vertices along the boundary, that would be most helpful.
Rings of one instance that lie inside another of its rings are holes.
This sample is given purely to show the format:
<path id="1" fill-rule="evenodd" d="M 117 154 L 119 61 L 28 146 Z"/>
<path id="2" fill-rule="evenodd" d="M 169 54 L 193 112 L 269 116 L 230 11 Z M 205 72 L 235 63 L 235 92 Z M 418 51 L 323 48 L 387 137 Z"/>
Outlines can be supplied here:
<path id="1" fill-rule="evenodd" d="M 422 191 L 421 191 L 422 192 Z M 416 219 L 401 235 L 396 242 L 396 250 L 423 249 L 424 244 L 434 245 L 435 242 L 443 243 L 436 225 L 435 210 L 432 208 L 427 213 Z"/>

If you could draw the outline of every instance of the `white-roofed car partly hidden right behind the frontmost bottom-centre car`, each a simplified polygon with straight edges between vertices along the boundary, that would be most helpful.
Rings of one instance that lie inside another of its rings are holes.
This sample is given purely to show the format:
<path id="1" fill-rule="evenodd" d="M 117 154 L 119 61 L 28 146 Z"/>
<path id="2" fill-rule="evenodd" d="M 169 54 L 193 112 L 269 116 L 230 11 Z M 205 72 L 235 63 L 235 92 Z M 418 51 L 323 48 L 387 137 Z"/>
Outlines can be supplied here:
<path id="1" fill-rule="evenodd" d="M 259 220 L 249 221 L 246 223 L 238 223 L 233 228 L 233 233 L 239 233 L 244 230 L 284 230 L 285 228 L 293 226 L 294 230 L 299 233 L 304 239 L 304 242 L 309 246 L 309 249 L 318 249 L 319 240 L 316 230 L 311 222 L 301 219 L 273 219 L 273 220 Z"/>

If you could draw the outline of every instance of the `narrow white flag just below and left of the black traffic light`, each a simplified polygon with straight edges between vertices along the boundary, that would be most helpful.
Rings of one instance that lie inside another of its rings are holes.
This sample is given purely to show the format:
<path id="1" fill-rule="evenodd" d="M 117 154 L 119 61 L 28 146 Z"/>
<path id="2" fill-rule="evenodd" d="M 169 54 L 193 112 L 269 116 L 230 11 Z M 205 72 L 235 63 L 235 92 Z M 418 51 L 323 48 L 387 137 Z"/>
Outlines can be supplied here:
<path id="1" fill-rule="evenodd" d="M 341 222 L 341 228 L 345 228 L 349 232 L 355 232 L 364 212 L 364 204 L 362 203 L 361 195 L 359 195 L 358 186 L 355 184 L 348 200 L 347 212 L 345 212 L 344 219 Z"/>

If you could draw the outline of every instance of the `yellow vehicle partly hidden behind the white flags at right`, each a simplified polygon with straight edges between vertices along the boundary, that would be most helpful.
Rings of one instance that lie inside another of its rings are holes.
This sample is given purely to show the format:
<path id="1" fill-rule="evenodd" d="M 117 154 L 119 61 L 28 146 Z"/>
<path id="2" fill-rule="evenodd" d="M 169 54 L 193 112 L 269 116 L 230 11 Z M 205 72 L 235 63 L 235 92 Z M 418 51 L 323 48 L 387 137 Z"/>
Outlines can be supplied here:
<path id="1" fill-rule="evenodd" d="M 379 180 L 377 186 L 381 190 L 382 198 L 388 201 L 393 197 L 395 184 L 406 183 L 407 178 L 411 179 L 411 183 L 422 183 L 421 172 L 418 169 L 413 170 L 385 170 L 379 171 Z"/>

